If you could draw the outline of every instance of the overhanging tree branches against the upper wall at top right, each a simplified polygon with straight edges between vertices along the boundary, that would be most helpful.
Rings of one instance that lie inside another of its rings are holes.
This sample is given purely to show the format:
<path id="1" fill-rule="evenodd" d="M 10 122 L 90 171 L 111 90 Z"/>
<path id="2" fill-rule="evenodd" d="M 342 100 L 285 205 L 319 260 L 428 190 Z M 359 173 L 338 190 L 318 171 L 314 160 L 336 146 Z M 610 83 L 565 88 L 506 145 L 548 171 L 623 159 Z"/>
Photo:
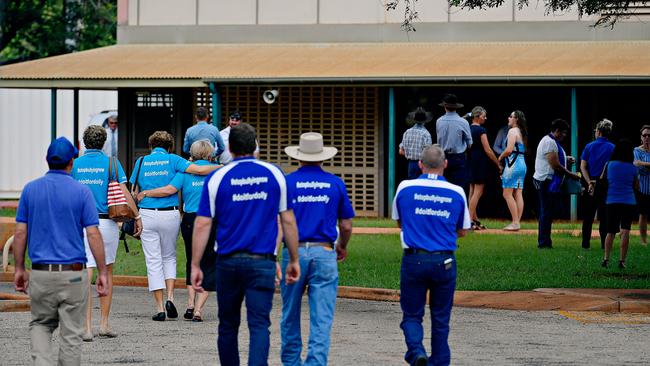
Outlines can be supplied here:
<path id="1" fill-rule="evenodd" d="M 464 9 L 488 9 L 496 8 L 505 0 L 448 0 L 449 5 Z M 620 20 L 634 15 L 634 8 L 642 8 L 650 5 L 650 0 L 543 0 L 546 14 L 570 10 L 574 6 L 578 9 L 578 15 L 597 15 L 595 26 L 610 26 Z M 415 4 L 418 0 L 389 0 L 386 3 L 387 10 L 395 10 L 403 2 L 405 5 L 404 22 L 402 29 L 407 32 L 415 31 L 413 22 L 418 19 L 418 12 Z M 516 0 L 519 9 L 528 6 L 529 0 Z"/>

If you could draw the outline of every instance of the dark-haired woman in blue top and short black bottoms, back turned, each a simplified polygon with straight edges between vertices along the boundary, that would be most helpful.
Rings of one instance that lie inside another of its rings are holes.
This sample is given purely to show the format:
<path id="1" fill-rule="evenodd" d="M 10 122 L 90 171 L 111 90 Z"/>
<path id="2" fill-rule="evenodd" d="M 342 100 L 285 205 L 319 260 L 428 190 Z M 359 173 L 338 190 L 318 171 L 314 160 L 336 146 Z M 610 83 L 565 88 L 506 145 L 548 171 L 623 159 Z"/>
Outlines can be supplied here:
<path id="1" fill-rule="evenodd" d="M 621 232 L 621 259 L 618 268 L 625 268 L 627 247 L 630 242 L 630 228 L 634 219 L 634 189 L 638 187 L 634 160 L 634 145 L 630 140 L 621 140 L 614 147 L 612 158 L 605 167 L 607 177 L 607 237 L 605 238 L 605 258 L 603 267 L 609 263 L 609 253 L 614 244 L 614 236 Z"/>

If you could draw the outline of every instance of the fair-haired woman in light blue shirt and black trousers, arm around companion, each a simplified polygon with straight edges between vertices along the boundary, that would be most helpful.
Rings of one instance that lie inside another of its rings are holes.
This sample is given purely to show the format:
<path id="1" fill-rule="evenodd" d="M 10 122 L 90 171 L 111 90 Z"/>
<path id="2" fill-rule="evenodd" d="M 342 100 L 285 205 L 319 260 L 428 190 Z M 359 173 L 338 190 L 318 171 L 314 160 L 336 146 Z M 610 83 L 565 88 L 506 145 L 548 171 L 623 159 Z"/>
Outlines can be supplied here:
<path id="1" fill-rule="evenodd" d="M 212 155 L 214 148 L 208 140 L 199 140 L 192 144 L 190 147 L 191 160 L 199 166 L 212 165 Z M 181 187 L 183 197 L 183 221 L 181 222 L 181 234 L 185 242 L 185 284 L 187 285 L 187 310 L 183 317 L 187 320 L 195 322 L 203 321 L 202 311 L 203 306 L 208 300 L 208 291 L 216 291 L 216 270 L 215 261 L 217 254 L 214 251 L 215 230 L 216 225 L 212 225 L 212 232 L 208 239 L 208 245 L 203 252 L 201 258 L 201 270 L 203 271 L 203 289 L 205 291 L 196 293 L 190 282 L 191 264 L 192 264 L 192 232 L 194 231 L 194 219 L 196 218 L 196 211 L 199 208 L 199 201 L 201 200 L 201 192 L 205 177 L 202 175 L 194 175 L 187 173 L 178 173 L 172 182 L 164 187 L 156 188 L 153 190 L 142 191 L 138 198 L 147 197 L 166 197 L 178 192 L 177 187 Z M 198 296 L 197 296 L 198 295 Z"/>

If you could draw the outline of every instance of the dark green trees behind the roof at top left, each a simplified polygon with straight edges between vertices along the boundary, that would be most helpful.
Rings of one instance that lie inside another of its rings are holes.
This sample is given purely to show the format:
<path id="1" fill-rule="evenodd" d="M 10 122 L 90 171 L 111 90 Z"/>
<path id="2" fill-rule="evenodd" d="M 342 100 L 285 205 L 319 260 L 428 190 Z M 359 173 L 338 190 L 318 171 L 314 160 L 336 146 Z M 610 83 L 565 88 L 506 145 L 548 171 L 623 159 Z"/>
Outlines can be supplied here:
<path id="1" fill-rule="evenodd" d="M 116 0 L 0 0 L 0 64 L 115 44 Z"/>

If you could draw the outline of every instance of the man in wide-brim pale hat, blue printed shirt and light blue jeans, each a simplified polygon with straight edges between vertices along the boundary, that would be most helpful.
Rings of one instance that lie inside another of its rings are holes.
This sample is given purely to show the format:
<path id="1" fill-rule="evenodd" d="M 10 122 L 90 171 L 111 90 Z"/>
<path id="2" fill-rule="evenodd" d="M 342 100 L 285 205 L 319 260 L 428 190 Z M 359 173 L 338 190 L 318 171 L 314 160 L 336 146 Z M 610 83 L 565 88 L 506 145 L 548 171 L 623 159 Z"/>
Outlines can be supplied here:
<path id="1" fill-rule="evenodd" d="M 347 256 L 354 209 L 341 178 L 321 168 L 321 162 L 336 155 L 335 147 L 323 146 L 323 136 L 307 132 L 299 146 L 284 149 L 300 161 L 300 168 L 287 175 L 287 191 L 298 223 L 300 271 L 291 285 L 282 283 L 282 363 L 285 365 L 327 365 L 330 330 L 334 320 L 338 268 L 336 261 Z M 287 265 L 285 248 L 282 266 Z M 300 359 L 300 304 L 309 286 L 309 346 Z"/>

